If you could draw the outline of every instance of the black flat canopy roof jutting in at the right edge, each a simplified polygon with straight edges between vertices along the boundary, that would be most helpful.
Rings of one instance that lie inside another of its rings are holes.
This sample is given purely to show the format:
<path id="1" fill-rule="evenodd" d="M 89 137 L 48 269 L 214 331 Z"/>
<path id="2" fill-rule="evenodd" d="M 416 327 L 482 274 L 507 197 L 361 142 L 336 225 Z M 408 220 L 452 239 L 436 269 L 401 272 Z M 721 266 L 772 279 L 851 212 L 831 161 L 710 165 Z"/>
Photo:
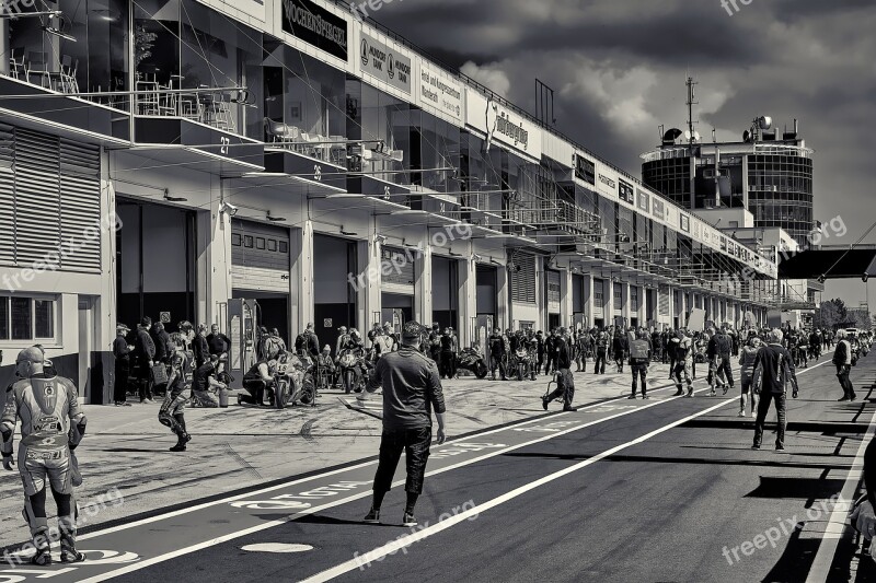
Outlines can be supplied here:
<path id="1" fill-rule="evenodd" d="M 781 279 L 860 278 L 876 276 L 876 248 L 807 249 L 779 263 Z"/>

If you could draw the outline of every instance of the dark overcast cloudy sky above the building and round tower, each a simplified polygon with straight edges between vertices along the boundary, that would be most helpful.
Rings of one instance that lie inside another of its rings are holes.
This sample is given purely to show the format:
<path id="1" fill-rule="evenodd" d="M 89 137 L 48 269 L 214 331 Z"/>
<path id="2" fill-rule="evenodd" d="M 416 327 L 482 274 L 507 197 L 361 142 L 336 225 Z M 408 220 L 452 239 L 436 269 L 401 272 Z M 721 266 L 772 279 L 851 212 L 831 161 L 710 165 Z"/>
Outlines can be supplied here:
<path id="1" fill-rule="evenodd" d="M 683 127 L 688 73 L 704 137 L 796 117 L 816 150 L 816 219 L 841 215 L 837 243 L 854 243 L 876 221 L 876 3 L 738 0 L 730 15 L 721 2 L 395 0 L 372 15 L 530 112 L 538 77 L 555 91 L 557 127 L 634 176 L 657 126 Z M 835 295 L 857 306 L 864 283 L 829 282 Z"/>

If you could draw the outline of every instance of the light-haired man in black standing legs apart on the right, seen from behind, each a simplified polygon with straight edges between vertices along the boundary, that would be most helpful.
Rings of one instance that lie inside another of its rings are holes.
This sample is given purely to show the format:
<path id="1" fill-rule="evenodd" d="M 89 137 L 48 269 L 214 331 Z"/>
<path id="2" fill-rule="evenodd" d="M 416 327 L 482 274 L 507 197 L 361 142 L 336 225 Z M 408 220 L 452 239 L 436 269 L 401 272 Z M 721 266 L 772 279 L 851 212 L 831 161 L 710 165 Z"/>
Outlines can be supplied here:
<path id="1" fill-rule="evenodd" d="M 760 450 L 763 439 L 763 424 L 766 415 L 770 412 L 770 404 L 775 400 L 775 409 L 779 413 L 777 433 L 775 436 L 776 451 L 785 450 L 785 397 L 787 383 L 793 388 L 793 397 L 797 398 L 799 387 L 797 385 L 797 373 L 794 370 L 794 359 L 787 349 L 782 347 L 782 330 L 774 328 L 770 333 L 770 343 L 760 349 L 754 359 L 754 394 L 760 395 L 758 403 L 758 418 L 754 421 L 754 444 L 752 450 Z"/>

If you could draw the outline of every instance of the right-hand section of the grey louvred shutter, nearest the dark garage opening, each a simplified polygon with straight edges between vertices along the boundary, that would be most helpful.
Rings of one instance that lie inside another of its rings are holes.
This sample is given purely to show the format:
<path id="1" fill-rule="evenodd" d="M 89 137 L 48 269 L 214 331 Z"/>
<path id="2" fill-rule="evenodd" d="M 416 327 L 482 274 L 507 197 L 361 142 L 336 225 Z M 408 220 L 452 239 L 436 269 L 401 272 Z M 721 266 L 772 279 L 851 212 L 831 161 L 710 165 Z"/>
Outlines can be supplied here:
<path id="1" fill-rule="evenodd" d="M 76 250 L 64 257 L 61 266 L 74 271 L 100 271 L 100 150 L 68 140 L 61 140 L 60 145 L 61 235 L 65 241 L 68 237 L 77 241 Z"/>

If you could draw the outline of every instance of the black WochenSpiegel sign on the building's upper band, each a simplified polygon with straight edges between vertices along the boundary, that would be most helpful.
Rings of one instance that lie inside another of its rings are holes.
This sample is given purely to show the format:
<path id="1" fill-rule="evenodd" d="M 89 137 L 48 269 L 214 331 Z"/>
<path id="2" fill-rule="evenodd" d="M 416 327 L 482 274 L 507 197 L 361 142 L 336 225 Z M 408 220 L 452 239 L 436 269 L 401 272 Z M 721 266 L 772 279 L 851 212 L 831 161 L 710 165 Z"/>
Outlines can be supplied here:
<path id="1" fill-rule="evenodd" d="M 311 0 L 283 0 L 283 30 L 347 60 L 347 21 Z"/>

